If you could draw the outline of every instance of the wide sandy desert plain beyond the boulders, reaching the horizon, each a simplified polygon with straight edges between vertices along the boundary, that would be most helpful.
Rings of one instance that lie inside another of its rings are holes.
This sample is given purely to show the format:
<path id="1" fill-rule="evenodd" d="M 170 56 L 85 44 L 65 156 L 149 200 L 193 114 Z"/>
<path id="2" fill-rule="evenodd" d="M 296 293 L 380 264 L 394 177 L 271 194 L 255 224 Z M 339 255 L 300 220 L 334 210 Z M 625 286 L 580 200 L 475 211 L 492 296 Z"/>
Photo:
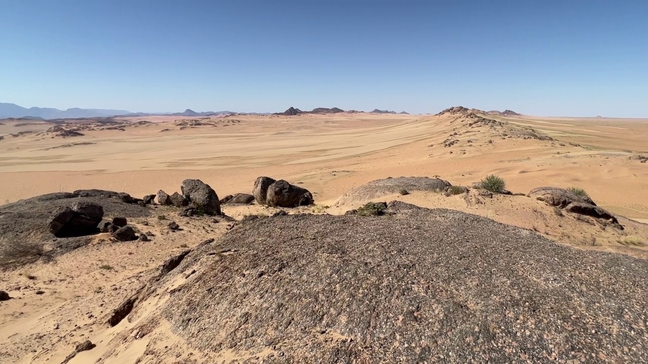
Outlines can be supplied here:
<path id="1" fill-rule="evenodd" d="M 462 131 L 448 115 L 237 115 L 200 126 L 187 125 L 192 118 L 140 117 L 125 119 L 133 124 L 124 131 L 92 128 L 65 139 L 40 133 L 49 123 L 4 120 L 0 135 L 35 132 L 0 141 L 0 201 L 79 188 L 140 197 L 173 192 L 185 178 L 225 196 L 251 192 L 256 177 L 271 176 L 301 182 L 318 203 L 332 205 L 351 188 L 388 176 L 469 185 L 498 174 L 512 192 L 583 187 L 605 209 L 648 219 L 648 165 L 628 159 L 648 152 L 648 119 L 493 118 L 557 142 Z M 462 140 L 445 148 L 453 130 Z"/>

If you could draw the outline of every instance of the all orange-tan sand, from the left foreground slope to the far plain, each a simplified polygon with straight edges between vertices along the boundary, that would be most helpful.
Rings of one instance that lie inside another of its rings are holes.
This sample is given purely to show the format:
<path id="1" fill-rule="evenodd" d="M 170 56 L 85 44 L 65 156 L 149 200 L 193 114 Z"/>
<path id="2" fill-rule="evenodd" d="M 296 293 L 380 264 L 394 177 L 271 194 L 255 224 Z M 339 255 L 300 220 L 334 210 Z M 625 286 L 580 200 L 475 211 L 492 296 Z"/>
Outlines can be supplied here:
<path id="1" fill-rule="evenodd" d="M 257 177 L 270 176 L 313 192 L 318 206 L 299 211 L 341 214 L 365 202 L 340 203 L 341 196 L 373 179 L 440 176 L 467 186 L 498 174 L 514 193 L 547 185 L 582 187 L 605 209 L 648 222 L 648 163 L 629 159 L 648 155 L 648 119 L 493 118 L 556 140 L 474 128 L 456 115 L 140 117 L 117 125 L 82 120 L 74 124 L 84 135 L 65 138 L 47 131 L 54 126 L 48 122 L 0 120 L 0 203 L 79 188 L 136 197 L 159 189 L 172 193 L 186 178 L 202 179 L 223 197 L 251 192 Z M 12 136 L 21 131 L 30 133 Z M 456 144 L 444 146 L 454 139 Z M 617 231 L 570 214 L 558 216 L 526 196 L 490 199 L 414 192 L 375 200 L 392 199 L 480 214 L 583 249 L 642 257 L 647 251 L 646 224 L 621 217 L 626 229 Z M 106 325 L 110 310 L 152 277 L 165 259 L 231 228 L 230 223 L 179 218 L 167 210 L 172 208 L 158 209 L 174 216 L 183 230 L 168 231 L 167 221 L 156 216 L 139 219 L 132 223 L 156 234 L 152 242 L 115 243 L 100 234 L 95 244 L 51 264 L 0 273 L 0 289 L 14 297 L 0 302 L 0 363 L 61 363 L 85 339 L 97 347 L 69 363 L 172 363 L 189 358 L 191 350 L 160 359 L 167 347 L 185 345 L 168 323 L 157 323 L 145 337 L 137 334 L 146 327 L 146 312 L 155 310 L 163 296 L 151 297 L 132 322 Z M 236 219 L 274 211 L 256 205 L 224 209 Z M 223 360 L 248 358 L 243 354 L 224 352 Z"/>

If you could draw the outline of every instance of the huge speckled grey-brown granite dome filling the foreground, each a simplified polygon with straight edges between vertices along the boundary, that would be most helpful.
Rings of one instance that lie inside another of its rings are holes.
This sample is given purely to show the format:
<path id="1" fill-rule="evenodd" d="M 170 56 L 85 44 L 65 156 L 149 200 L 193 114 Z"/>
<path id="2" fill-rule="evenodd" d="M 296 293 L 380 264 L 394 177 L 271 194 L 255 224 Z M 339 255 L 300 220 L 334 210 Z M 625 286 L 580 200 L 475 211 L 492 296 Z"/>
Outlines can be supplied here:
<path id="1" fill-rule="evenodd" d="M 238 225 L 146 288 L 170 295 L 148 315 L 205 362 L 231 347 L 262 363 L 648 362 L 648 261 L 454 210 L 388 209 Z"/>

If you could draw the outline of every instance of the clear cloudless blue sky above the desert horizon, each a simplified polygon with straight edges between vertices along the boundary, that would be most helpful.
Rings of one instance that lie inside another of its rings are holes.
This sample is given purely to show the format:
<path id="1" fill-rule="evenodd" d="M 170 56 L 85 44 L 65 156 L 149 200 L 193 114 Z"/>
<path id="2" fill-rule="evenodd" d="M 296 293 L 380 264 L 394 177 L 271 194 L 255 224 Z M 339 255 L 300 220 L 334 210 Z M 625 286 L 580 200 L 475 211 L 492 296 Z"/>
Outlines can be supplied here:
<path id="1" fill-rule="evenodd" d="M 0 0 L 0 102 L 648 117 L 648 1 Z"/>

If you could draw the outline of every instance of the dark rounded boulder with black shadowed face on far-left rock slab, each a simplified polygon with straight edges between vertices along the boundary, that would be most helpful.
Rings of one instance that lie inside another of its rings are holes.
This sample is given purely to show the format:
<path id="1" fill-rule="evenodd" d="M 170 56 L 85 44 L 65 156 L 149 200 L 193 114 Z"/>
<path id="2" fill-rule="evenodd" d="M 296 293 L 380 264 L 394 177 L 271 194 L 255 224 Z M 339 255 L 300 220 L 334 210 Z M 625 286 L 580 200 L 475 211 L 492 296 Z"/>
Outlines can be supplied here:
<path id="1" fill-rule="evenodd" d="M 98 233 L 97 225 L 104 217 L 101 205 L 77 202 L 72 207 L 60 207 L 49 218 L 47 226 L 54 236 L 83 236 Z"/>

